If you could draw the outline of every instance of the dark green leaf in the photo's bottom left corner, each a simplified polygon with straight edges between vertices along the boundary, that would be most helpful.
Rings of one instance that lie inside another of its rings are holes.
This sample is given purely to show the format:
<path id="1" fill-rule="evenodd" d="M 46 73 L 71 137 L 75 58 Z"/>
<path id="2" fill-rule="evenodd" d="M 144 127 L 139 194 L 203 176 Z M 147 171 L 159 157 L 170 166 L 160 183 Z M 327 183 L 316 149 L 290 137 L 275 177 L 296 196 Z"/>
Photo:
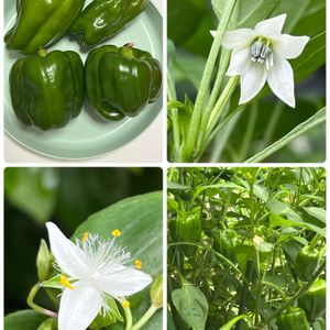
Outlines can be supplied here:
<path id="1" fill-rule="evenodd" d="M 20 310 L 4 318 L 6 330 L 35 330 L 47 319 L 46 316 L 34 310 Z"/>

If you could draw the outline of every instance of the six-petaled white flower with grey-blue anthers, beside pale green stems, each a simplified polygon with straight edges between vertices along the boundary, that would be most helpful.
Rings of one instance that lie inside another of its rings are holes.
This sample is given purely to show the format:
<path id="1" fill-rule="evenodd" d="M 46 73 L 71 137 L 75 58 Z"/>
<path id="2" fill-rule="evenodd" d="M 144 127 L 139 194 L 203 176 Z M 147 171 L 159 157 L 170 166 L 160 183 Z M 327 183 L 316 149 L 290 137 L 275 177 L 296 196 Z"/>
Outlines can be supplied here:
<path id="1" fill-rule="evenodd" d="M 227 75 L 241 76 L 240 105 L 253 99 L 268 81 L 273 92 L 295 108 L 294 73 L 287 59 L 298 57 L 309 37 L 282 34 L 285 19 L 282 14 L 257 23 L 254 30 L 226 33 L 222 45 L 233 51 Z"/>

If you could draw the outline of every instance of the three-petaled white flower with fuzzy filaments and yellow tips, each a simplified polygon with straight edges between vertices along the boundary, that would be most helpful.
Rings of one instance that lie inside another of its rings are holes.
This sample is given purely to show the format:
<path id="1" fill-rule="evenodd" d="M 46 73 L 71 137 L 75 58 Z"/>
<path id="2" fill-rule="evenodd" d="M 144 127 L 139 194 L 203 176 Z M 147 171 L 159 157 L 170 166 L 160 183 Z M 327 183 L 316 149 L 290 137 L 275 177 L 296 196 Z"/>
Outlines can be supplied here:
<path id="1" fill-rule="evenodd" d="M 97 235 L 68 240 L 52 222 L 47 222 L 51 249 L 56 267 L 65 274 L 66 287 L 61 297 L 58 330 L 85 330 L 99 312 L 109 311 L 107 297 L 122 299 L 146 287 L 152 278 L 127 266 L 129 253 Z"/>

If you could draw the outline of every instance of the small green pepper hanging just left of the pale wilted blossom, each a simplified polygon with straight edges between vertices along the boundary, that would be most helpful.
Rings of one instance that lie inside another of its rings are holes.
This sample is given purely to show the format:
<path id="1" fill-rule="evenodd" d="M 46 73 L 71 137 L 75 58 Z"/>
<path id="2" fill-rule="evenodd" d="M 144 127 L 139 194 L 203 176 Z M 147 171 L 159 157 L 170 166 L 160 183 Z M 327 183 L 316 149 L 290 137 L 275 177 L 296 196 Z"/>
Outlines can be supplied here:
<path id="1" fill-rule="evenodd" d="M 238 242 L 238 234 L 232 229 L 219 229 L 213 234 L 215 250 L 231 261 L 235 261 L 235 246 Z"/>

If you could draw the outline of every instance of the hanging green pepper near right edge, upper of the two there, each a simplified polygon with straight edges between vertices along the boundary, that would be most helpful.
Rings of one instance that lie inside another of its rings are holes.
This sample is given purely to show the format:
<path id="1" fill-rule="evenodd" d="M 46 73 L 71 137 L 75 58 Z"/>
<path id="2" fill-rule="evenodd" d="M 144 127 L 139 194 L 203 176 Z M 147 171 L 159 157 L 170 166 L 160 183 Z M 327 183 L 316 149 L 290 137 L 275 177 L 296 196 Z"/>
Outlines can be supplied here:
<path id="1" fill-rule="evenodd" d="M 304 282 L 311 279 L 320 257 L 320 252 L 311 245 L 305 246 L 299 251 L 295 262 L 295 273 L 299 279 Z"/>

